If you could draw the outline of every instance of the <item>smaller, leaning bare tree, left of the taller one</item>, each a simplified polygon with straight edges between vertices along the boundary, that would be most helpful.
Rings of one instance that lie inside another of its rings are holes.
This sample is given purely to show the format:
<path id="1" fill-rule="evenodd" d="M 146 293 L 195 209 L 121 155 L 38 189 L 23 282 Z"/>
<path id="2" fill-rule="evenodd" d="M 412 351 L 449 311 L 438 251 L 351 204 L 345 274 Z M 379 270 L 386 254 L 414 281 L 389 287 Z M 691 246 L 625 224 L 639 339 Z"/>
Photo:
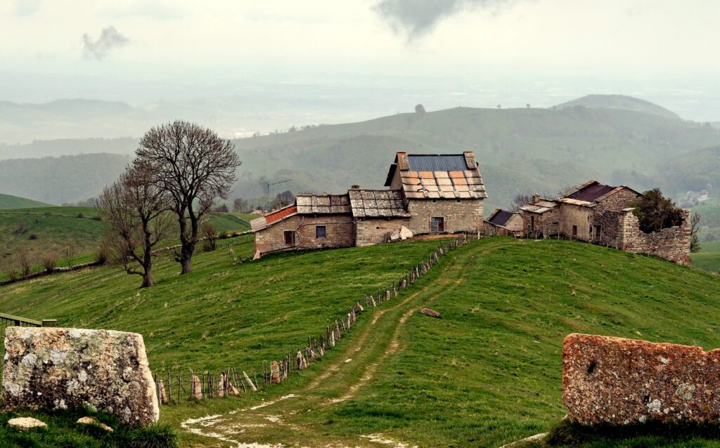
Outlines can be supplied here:
<path id="1" fill-rule="evenodd" d="M 168 235 L 172 215 L 169 195 L 161 191 L 148 165 L 130 165 L 98 199 L 106 223 L 106 239 L 128 274 L 143 277 L 145 288 L 153 279 L 153 247 Z"/>

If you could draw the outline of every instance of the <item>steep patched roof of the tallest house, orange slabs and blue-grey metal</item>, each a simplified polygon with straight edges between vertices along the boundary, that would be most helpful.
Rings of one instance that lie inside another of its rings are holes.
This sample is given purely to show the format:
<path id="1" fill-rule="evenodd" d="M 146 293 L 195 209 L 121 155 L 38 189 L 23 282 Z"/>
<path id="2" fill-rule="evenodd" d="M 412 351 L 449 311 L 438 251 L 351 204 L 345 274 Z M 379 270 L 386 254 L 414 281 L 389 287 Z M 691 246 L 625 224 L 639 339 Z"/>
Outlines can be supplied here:
<path id="1" fill-rule="evenodd" d="M 416 155 L 397 152 L 385 186 L 400 172 L 408 199 L 487 198 L 480 169 L 472 151 L 454 155 Z"/>

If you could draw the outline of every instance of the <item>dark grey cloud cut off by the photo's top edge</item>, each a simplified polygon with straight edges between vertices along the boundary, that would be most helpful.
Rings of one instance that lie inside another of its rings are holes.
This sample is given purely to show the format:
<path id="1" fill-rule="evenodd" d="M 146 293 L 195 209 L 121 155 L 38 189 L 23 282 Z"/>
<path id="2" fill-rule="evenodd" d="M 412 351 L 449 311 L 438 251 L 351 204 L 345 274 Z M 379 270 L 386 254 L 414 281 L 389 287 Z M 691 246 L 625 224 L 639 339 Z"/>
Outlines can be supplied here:
<path id="1" fill-rule="evenodd" d="M 499 12 L 516 0 L 379 0 L 374 11 L 408 40 L 431 32 L 444 19 L 471 9 Z"/>

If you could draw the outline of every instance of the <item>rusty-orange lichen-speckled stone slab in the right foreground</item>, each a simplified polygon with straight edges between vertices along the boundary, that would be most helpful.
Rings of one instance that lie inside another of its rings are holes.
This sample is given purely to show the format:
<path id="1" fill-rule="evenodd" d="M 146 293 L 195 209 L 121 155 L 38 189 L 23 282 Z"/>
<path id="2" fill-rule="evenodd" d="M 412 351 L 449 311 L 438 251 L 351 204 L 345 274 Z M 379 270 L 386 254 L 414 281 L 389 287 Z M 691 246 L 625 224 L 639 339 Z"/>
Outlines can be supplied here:
<path id="1" fill-rule="evenodd" d="M 562 401 L 582 424 L 720 420 L 720 349 L 570 334 Z"/>

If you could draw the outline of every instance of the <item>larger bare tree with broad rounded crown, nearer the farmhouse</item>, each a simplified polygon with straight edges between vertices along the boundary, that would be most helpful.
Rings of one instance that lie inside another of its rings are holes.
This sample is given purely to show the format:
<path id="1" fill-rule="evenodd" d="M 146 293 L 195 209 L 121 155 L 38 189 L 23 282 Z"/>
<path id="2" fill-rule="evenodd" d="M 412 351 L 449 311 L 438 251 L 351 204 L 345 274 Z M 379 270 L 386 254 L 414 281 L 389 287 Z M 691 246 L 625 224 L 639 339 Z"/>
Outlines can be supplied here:
<path id="1" fill-rule="evenodd" d="M 192 271 L 199 222 L 217 198 L 227 199 L 240 160 L 216 132 L 181 120 L 153 127 L 140 140 L 135 163 L 152 167 L 153 183 L 171 197 L 179 224 L 182 273 Z"/>

